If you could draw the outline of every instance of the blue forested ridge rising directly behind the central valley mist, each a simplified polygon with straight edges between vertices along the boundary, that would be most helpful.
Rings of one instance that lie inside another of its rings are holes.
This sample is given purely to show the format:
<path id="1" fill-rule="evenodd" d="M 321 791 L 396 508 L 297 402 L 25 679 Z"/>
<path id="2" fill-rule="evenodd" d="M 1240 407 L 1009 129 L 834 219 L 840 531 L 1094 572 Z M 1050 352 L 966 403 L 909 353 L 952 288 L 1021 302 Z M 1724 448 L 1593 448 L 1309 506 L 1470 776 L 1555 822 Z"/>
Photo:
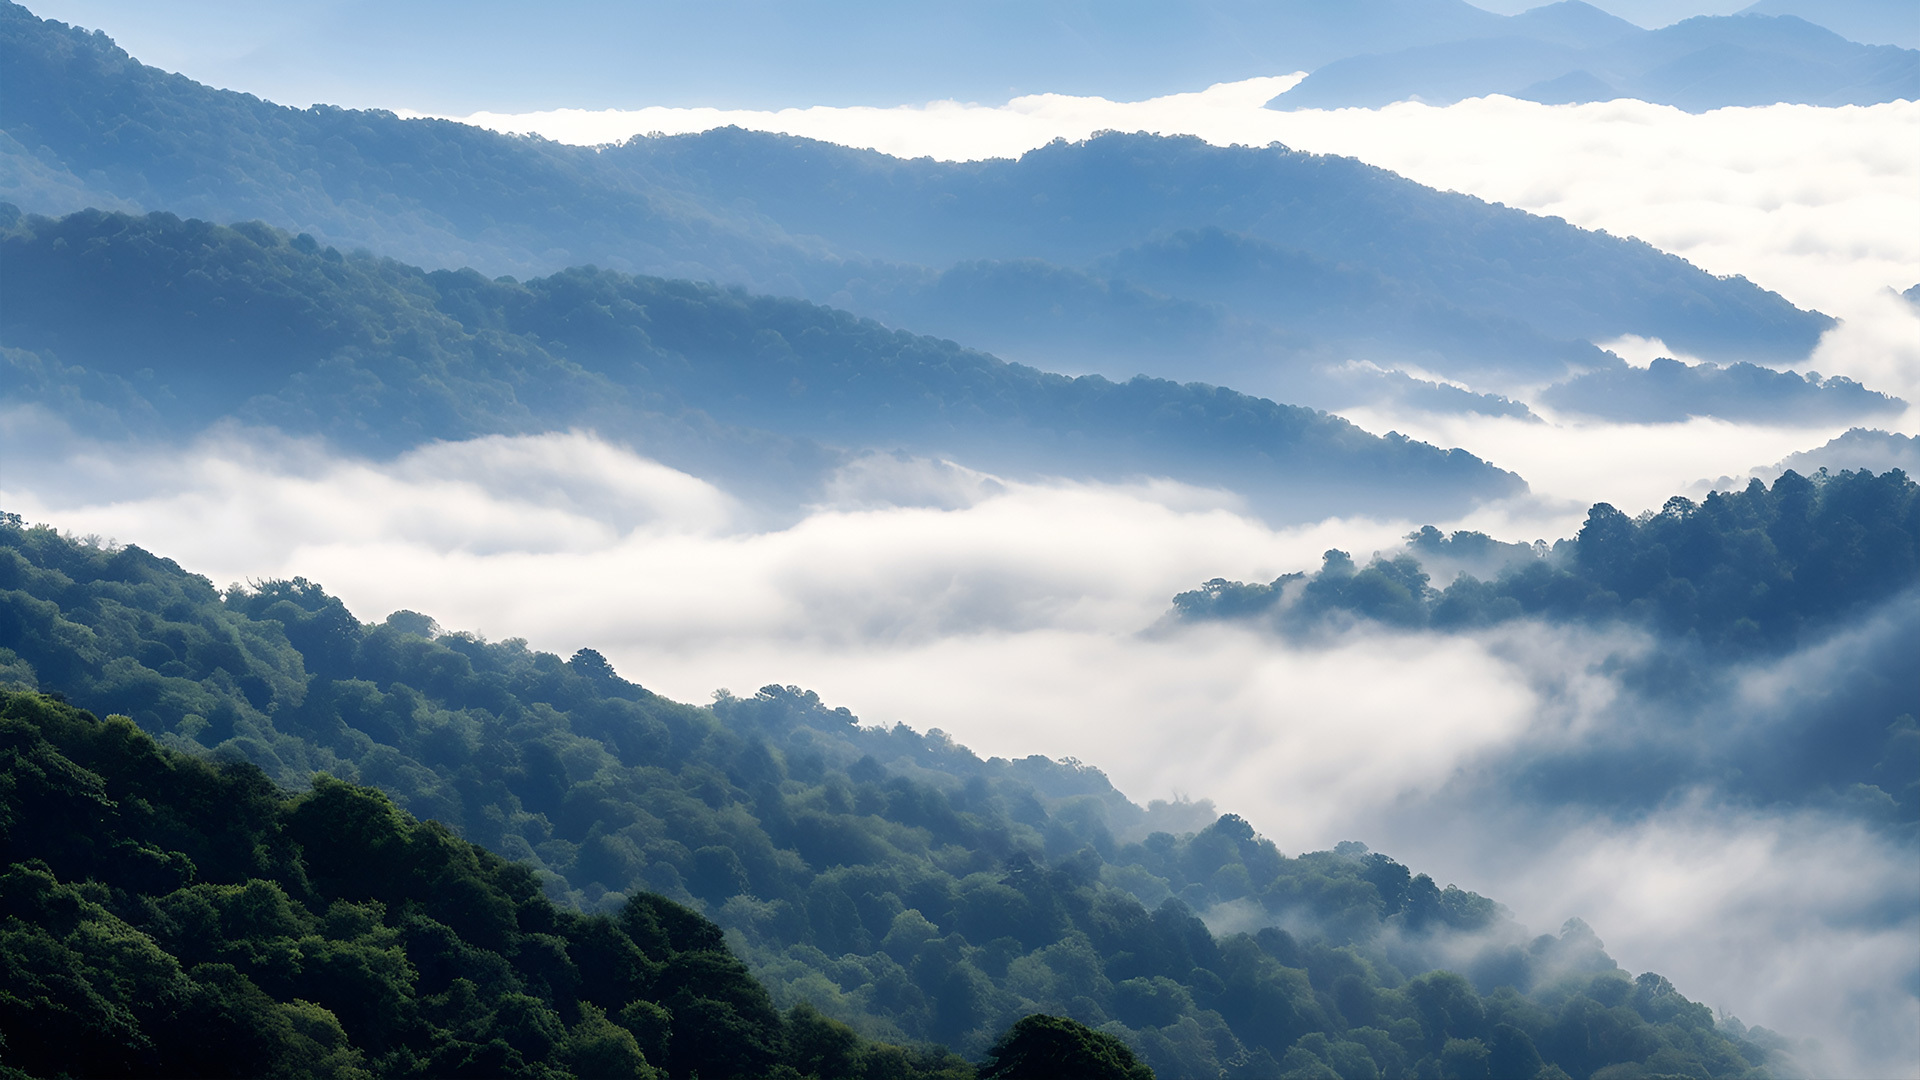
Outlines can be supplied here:
<path id="1" fill-rule="evenodd" d="M 841 450 L 1010 475 L 1175 477 L 1288 515 L 1457 509 L 1524 484 L 1461 450 L 1206 384 L 1004 363 L 804 300 L 593 267 L 528 282 L 263 225 L 0 206 L 8 398 L 86 427 L 236 415 L 353 452 L 597 427 L 804 498 Z M 795 482 L 795 479 L 799 482 Z"/>

